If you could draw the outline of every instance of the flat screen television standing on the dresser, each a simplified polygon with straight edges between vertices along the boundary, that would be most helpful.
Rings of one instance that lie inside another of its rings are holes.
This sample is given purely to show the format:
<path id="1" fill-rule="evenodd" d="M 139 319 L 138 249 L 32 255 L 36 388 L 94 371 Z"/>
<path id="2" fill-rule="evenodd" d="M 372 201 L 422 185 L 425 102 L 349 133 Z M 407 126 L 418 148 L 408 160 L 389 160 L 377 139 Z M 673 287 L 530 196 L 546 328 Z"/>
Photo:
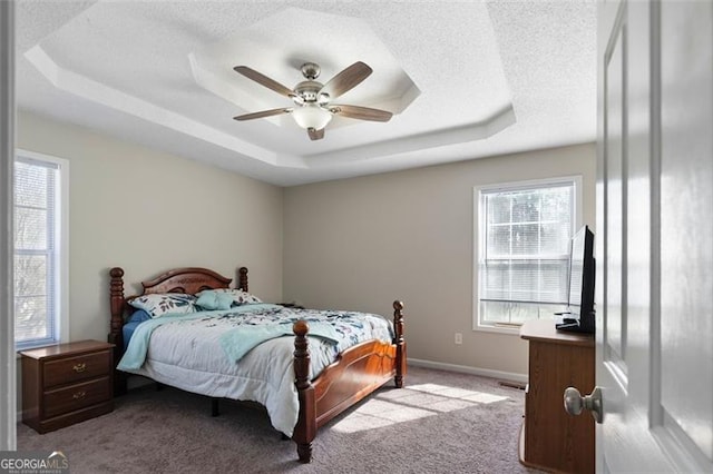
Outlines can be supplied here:
<path id="1" fill-rule="evenodd" d="M 582 227 L 569 245 L 569 284 L 567 310 L 561 315 L 560 330 L 594 333 L 594 234 L 589 227 Z"/>

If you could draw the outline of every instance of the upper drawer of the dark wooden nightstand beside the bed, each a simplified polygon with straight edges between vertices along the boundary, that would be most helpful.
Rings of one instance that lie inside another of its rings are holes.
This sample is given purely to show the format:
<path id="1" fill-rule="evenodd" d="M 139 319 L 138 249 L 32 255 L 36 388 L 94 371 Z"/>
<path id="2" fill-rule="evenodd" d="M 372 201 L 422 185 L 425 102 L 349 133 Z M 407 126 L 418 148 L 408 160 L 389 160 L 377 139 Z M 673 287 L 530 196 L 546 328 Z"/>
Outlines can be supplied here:
<path id="1" fill-rule="evenodd" d="M 109 350 L 48 361 L 43 364 L 45 388 L 107 375 L 111 372 Z"/>

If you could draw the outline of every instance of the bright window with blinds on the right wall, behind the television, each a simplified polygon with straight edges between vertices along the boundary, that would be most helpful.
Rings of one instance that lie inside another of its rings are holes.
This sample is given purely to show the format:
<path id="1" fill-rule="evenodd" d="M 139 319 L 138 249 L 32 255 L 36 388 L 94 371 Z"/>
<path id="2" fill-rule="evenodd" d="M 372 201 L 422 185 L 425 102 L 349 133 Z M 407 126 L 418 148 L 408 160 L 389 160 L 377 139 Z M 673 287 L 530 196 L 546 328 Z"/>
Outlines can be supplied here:
<path id="1" fill-rule="evenodd" d="M 580 182 L 575 177 L 475 189 L 475 328 L 512 330 L 566 307 Z"/>

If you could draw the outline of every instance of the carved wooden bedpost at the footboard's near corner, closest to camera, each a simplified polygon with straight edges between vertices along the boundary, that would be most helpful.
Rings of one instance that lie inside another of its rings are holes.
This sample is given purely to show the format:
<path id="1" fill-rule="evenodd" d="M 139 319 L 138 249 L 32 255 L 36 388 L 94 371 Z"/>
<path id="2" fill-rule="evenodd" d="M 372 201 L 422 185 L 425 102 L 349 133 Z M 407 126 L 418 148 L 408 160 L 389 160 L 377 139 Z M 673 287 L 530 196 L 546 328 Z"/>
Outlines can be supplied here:
<path id="1" fill-rule="evenodd" d="M 307 347 L 307 330 L 310 326 L 299 320 L 292 326 L 294 332 L 294 376 L 300 398 L 300 414 L 292 438 L 297 444 L 300 462 L 312 461 L 312 441 L 316 436 L 316 401 L 314 386 L 310 382 L 310 350 Z"/>

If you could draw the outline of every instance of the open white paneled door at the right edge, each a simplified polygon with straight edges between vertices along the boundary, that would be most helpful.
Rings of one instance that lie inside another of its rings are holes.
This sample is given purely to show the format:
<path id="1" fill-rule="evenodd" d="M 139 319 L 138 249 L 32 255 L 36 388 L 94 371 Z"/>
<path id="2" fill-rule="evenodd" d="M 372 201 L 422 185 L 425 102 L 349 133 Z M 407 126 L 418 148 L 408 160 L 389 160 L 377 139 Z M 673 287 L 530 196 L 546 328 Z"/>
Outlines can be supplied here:
<path id="1" fill-rule="evenodd" d="M 713 2 L 598 16 L 598 472 L 713 471 Z"/>

